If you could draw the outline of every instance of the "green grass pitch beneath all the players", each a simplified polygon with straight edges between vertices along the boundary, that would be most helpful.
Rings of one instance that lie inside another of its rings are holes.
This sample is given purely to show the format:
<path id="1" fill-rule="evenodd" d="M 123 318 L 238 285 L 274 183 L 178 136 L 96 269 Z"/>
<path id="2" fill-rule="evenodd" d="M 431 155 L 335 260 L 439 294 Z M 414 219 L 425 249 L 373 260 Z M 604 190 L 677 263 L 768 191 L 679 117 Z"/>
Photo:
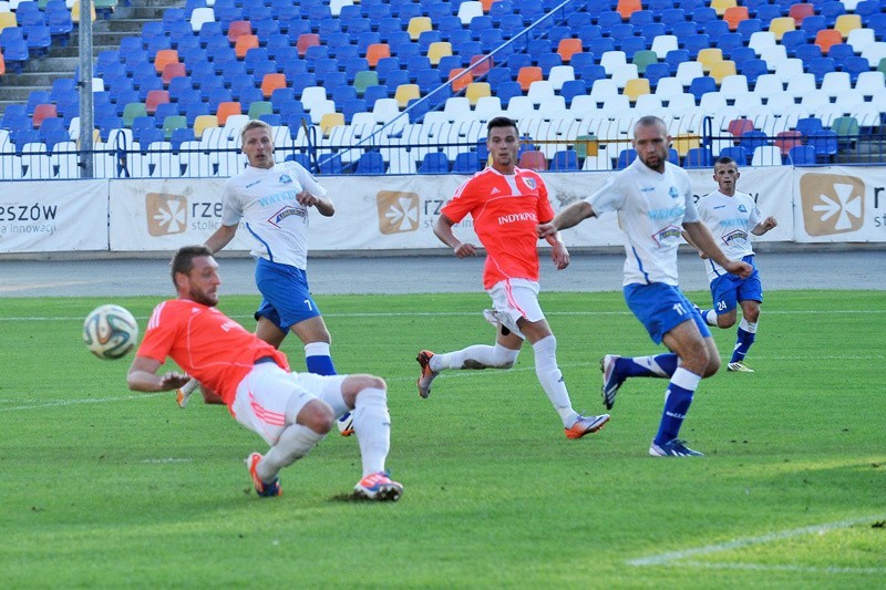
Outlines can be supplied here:
<path id="1" fill-rule="evenodd" d="M 339 371 L 389 382 L 405 486 L 391 505 L 347 499 L 357 441 L 337 435 L 282 473 L 281 498 L 256 497 L 243 458 L 257 435 L 219 406 L 128 392 L 128 359 L 85 351 L 82 318 L 103 302 L 0 308 L 4 588 L 883 584 L 883 292 L 767 293 L 756 373 L 702 382 L 681 435 L 708 456 L 682 460 L 647 456 L 663 381 L 630 381 L 604 431 L 567 441 L 529 348 L 420 400 L 418 350 L 491 342 L 483 293 L 320 297 Z M 114 302 L 144 327 L 157 299 Z M 662 350 L 620 293 L 542 303 L 579 411 L 601 410 L 600 355 Z M 255 304 L 222 309 L 251 327 Z M 714 335 L 725 355 L 734 330 Z M 295 339 L 285 350 L 300 369 Z"/>

